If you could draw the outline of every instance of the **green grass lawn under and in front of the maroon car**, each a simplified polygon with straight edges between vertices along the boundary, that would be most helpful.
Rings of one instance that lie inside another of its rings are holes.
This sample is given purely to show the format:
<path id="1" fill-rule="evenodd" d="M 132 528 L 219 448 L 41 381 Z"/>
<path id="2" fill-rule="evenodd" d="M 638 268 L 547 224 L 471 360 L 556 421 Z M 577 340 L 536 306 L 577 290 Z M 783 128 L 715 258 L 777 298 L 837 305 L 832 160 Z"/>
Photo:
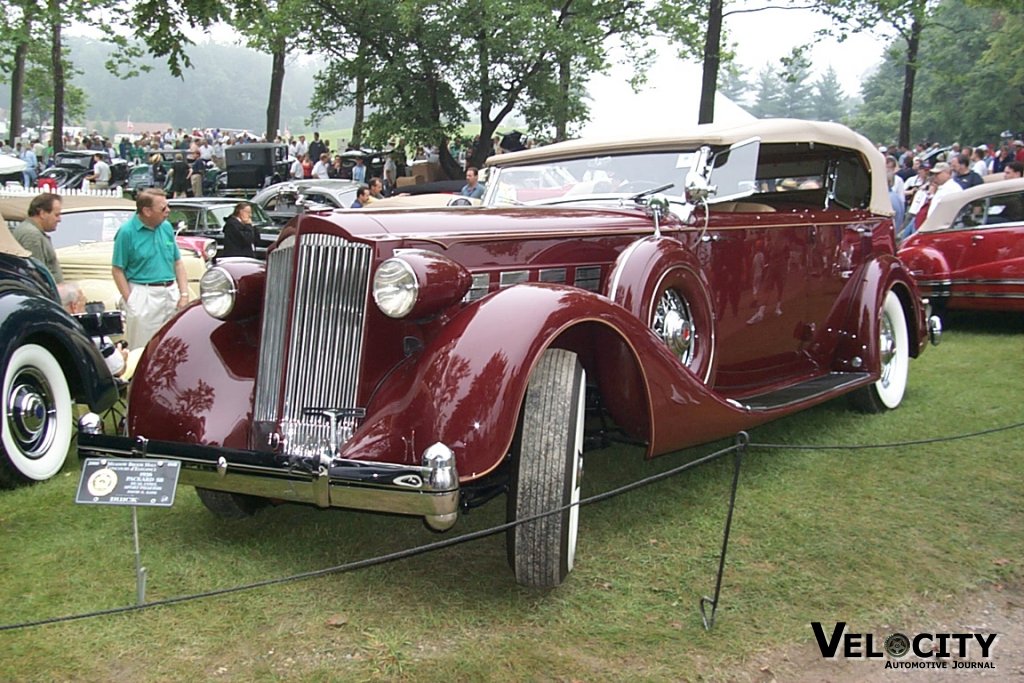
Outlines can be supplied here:
<path id="1" fill-rule="evenodd" d="M 835 401 L 752 432 L 755 443 L 902 442 L 1024 422 L 1024 316 L 959 315 L 912 362 L 903 405 Z M 717 461 L 587 506 L 577 568 L 521 589 L 489 537 L 349 573 L 0 632 L 3 681 L 734 680 L 810 623 L 869 629 L 942 596 L 1024 577 L 1024 429 L 880 450 L 753 447 L 740 476 L 717 624 L 732 464 Z M 585 495 L 723 443 L 643 462 L 589 453 Z M 77 464 L 0 492 L 0 625 L 130 605 L 130 511 L 76 506 Z M 140 509 L 150 601 L 342 564 L 446 538 L 416 520 L 282 506 L 217 520 L 182 487 Z M 504 521 L 498 500 L 449 536 Z M 756 670 L 756 669 L 755 669 Z"/>

